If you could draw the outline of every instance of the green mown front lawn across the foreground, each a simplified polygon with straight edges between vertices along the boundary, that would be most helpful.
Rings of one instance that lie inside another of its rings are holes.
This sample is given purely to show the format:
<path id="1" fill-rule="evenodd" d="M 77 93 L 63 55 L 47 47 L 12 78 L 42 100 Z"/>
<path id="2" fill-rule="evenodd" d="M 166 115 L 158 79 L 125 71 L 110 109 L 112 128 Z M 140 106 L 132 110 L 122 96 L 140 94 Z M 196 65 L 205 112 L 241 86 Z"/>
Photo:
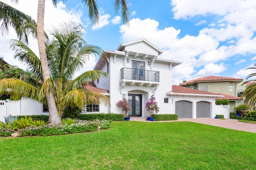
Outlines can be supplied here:
<path id="1" fill-rule="evenodd" d="M 256 133 L 192 122 L 112 122 L 51 137 L 0 137 L 1 170 L 254 170 Z"/>

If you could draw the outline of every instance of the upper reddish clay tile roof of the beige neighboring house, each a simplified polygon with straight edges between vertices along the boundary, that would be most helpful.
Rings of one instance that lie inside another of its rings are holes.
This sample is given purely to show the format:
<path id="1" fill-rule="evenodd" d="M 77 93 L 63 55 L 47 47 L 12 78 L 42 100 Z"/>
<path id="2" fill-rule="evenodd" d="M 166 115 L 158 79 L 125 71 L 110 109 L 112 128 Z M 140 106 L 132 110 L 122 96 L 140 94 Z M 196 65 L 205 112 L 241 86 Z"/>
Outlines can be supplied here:
<path id="1" fill-rule="evenodd" d="M 207 82 L 207 81 L 243 81 L 242 78 L 232 78 L 232 77 L 220 77 L 220 76 L 206 76 L 202 78 L 196 78 L 194 80 L 190 80 L 184 83 L 180 83 L 180 85 L 186 85 L 186 84 L 194 84 L 195 82 Z"/>

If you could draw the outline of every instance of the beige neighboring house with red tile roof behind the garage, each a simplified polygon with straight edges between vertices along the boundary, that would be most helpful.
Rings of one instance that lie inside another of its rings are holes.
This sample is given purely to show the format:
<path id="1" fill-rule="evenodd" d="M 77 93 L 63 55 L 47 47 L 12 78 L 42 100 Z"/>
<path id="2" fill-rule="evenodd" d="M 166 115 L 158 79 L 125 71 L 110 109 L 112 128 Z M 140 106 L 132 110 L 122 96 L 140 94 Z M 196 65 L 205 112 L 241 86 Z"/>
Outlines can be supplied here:
<path id="1" fill-rule="evenodd" d="M 242 78 L 206 76 L 180 83 L 180 86 L 223 95 L 224 97 L 216 99 L 228 99 L 230 111 L 234 112 L 234 107 L 243 104 L 241 96 L 245 88 L 241 88 L 242 82 Z"/>

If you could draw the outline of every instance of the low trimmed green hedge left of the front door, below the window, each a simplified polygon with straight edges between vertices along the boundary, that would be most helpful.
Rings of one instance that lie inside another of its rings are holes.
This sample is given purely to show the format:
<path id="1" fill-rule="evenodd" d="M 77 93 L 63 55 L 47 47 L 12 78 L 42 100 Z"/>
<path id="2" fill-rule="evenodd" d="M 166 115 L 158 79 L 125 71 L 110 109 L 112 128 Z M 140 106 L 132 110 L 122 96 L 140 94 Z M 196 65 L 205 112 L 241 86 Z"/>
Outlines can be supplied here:
<path id="1" fill-rule="evenodd" d="M 80 120 L 111 120 L 111 121 L 124 121 L 124 115 L 116 113 L 91 113 L 80 114 Z"/>

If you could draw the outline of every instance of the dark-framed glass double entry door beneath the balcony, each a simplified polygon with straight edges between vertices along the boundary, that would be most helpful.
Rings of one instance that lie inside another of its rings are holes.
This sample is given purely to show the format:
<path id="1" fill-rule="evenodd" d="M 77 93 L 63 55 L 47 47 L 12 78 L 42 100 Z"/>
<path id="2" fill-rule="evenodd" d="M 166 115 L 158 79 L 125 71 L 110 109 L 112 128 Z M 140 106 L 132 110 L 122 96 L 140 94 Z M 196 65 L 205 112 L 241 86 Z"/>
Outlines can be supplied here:
<path id="1" fill-rule="evenodd" d="M 128 111 L 129 117 L 141 117 L 142 116 L 142 95 L 141 94 L 128 94 L 128 102 L 131 111 Z"/>

